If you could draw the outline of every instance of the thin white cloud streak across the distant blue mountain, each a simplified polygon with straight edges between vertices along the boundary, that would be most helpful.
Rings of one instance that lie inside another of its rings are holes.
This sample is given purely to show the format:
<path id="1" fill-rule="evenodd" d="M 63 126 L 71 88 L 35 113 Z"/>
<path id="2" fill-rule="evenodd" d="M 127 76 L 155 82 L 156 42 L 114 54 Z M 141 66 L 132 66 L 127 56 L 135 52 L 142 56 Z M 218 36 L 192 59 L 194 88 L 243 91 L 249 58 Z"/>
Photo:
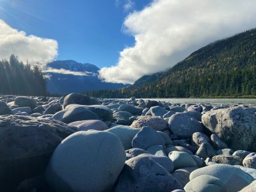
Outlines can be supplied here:
<path id="1" fill-rule="evenodd" d="M 54 74 L 65 74 L 65 75 L 73 75 L 73 76 L 97 76 L 97 74 L 93 74 L 92 72 L 75 72 L 71 70 L 67 70 L 64 68 L 51 68 L 47 67 L 45 70 L 43 70 L 45 76 L 49 77 L 51 74 L 48 73 L 54 73 Z"/>

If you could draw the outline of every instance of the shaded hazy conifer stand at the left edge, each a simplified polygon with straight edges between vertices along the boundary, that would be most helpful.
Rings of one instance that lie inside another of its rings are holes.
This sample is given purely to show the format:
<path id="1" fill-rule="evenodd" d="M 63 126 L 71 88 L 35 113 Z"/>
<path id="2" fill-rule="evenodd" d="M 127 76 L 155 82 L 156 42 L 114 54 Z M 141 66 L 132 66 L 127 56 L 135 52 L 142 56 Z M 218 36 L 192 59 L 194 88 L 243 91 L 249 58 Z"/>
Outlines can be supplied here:
<path id="1" fill-rule="evenodd" d="M 47 95 L 42 70 L 19 61 L 12 54 L 9 60 L 0 61 L 0 94 L 3 95 Z"/>

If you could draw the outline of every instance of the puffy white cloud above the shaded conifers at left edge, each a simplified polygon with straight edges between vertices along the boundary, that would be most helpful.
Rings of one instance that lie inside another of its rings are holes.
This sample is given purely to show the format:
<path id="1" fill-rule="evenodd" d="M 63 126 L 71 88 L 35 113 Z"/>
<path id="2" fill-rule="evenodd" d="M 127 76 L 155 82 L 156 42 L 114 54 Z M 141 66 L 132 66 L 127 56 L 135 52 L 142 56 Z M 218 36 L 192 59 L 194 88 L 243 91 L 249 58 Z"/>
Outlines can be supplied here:
<path id="1" fill-rule="evenodd" d="M 0 60 L 8 59 L 11 54 L 26 63 L 45 64 L 52 61 L 58 54 L 58 42 L 49 38 L 26 35 L 8 26 L 0 19 Z"/>

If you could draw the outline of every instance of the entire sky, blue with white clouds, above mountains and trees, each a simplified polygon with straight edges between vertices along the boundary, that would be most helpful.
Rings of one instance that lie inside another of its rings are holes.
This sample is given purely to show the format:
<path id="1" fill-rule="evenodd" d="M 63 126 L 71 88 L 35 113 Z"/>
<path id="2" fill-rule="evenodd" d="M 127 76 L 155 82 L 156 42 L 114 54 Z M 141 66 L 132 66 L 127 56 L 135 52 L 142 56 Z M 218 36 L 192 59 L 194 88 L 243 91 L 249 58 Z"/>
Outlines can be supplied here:
<path id="1" fill-rule="evenodd" d="M 211 42 L 256 28 L 255 0 L 0 0 L 0 59 L 92 63 L 134 83 Z"/>

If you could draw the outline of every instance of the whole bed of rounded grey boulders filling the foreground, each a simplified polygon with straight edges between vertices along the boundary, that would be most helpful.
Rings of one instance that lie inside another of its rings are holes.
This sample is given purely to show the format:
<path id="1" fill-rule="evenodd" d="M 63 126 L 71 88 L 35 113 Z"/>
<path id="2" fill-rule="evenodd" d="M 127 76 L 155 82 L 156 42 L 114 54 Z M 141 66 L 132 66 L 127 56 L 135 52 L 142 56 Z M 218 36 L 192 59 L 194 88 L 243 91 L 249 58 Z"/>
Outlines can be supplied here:
<path id="1" fill-rule="evenodd" d="M 256 191 L 256 108 L 0 96 L 0 191 Z"/>

